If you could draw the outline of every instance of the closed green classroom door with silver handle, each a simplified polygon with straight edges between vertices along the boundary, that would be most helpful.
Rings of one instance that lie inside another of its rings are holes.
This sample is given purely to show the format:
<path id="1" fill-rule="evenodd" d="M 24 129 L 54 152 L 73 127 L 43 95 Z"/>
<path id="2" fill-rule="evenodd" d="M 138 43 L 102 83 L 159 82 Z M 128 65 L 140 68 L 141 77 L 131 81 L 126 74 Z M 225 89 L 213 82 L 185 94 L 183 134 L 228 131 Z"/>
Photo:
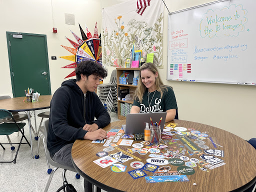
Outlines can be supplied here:
<path id="1" fill-rule="evenodd" d="M 46 35 L 6 32 L 13 97 L 25 96 L 33 88 L 50 95 Z"/>

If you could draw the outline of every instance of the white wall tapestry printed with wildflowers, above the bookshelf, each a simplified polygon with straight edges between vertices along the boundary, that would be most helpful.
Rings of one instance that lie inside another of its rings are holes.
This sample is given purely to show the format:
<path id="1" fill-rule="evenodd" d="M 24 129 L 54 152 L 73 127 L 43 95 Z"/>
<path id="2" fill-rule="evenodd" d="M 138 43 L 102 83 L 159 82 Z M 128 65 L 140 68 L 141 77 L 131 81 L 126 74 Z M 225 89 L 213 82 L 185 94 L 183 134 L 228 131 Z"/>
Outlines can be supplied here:
<path id="1" fill-rule="evenodd" d="M 146 4 L 142 4 L 142 7 L 136 0 L 126 0 L 103 8 L 104 65 L 124 67 L 126 58 L 130 57 L 133 42 L 134 50 L 142 49 L 144 60 L 147 53 L 154 53 L 153 63 L 156 66 L 162 65 L 163 2 L 145 1 Z"/>

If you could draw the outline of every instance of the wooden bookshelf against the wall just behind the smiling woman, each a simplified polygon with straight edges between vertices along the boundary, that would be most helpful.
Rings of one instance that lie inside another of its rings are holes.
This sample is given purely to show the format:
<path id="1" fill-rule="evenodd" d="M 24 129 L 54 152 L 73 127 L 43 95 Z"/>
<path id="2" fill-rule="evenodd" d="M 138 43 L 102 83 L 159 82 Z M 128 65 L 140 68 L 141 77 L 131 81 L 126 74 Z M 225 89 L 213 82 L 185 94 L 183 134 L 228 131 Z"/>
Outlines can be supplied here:
<path id="1" fill-rule="evenodd" d="M 139 68 L 116 68 L 116 80 L 117 80 L 117 98 L 118 98 L 118 87 L 128 87 L 130 88 L 130 91 L 135 91 L 137 85 L 132 84 L 120 84 L 119 83 L 119 76 L 123 73 L 124 70 L 139 70 Z M 118 119 L 125 120 L 126 117 L 122 116 L 120 113 L 121 109 L 121 103 L 129 103 L 132 104 L 133 100 L 118 100 L 117 99 L 117 113 L 118 113 Z"/>

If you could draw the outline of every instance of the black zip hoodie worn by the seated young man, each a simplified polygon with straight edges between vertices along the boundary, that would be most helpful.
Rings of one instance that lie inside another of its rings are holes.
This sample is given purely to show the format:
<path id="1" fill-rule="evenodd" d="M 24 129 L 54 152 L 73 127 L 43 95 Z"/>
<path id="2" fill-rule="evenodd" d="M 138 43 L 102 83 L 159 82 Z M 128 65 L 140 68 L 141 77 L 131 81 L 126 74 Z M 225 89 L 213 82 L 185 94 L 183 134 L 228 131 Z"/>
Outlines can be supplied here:
<path id="1" fill-rule="evenodd" d="M 50 156 L 64 145 L 83 139 L 87 132 L 82 129 L 85 124 L 96 123 L 98 128 L 103 128 L 110 122 L 109 114 L 94 92 L 86 92 L 84 107 L 84 94 L 75 82 L 76 79 L 62 82 L 50 101 L 47 134 Z"/>

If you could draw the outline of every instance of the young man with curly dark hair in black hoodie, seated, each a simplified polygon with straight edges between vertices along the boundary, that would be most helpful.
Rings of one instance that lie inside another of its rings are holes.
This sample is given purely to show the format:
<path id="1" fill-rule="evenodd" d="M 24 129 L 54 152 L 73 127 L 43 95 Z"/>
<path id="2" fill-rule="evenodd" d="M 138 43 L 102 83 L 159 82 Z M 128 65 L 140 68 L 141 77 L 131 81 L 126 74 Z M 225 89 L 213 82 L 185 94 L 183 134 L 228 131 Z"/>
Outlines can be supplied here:
<path id="1" fill-rule="evenodd" d="M 100 139 L 106 136 L 102 128 L 109 124 L 110 116 L 94 90 L 106 70 L 90 60 L 77 64 L 76 79 L 62 82 L 50 102 L 47 147 L 56 162 L 73 167 L 71 148 L 76 139 Z M 94 120 L 96 117 L 96 120 Z M 84 190 L 92 184 L 84 179 Z"/>

